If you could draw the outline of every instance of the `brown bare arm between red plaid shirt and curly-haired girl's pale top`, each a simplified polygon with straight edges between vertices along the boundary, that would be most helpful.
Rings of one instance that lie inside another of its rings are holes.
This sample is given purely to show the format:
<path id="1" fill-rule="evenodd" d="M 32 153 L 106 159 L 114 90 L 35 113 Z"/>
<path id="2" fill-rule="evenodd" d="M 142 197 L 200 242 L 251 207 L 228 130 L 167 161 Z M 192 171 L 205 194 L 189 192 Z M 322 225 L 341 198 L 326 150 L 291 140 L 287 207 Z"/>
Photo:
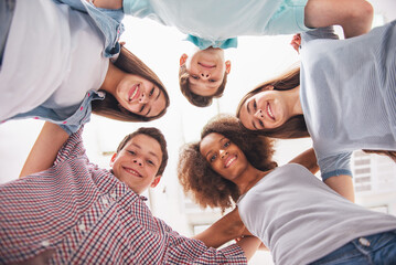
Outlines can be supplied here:
<path id="1" fill-rule="evenodd" d="M 244 231 L 245 225 L 240 220 L 238 209 L 235 208 L 193 239 L 204 242 L 206 246 L 220 247 L 231 240 L 240 237 Z"/>

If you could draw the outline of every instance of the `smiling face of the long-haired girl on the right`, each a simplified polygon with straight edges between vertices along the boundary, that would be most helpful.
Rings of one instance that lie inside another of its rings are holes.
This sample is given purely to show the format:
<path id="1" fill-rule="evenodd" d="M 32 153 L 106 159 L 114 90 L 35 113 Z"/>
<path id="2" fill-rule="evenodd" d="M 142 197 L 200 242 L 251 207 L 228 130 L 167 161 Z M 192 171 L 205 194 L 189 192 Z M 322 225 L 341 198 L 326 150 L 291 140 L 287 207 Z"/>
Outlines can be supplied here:
<path id="1" fill-rule="evenodd" d="M 239 110 L 242 124 L 250 130 L 274 129 L 285 124 L 292 115 L 287 92 L 267 87 L 246 99 Z"/>

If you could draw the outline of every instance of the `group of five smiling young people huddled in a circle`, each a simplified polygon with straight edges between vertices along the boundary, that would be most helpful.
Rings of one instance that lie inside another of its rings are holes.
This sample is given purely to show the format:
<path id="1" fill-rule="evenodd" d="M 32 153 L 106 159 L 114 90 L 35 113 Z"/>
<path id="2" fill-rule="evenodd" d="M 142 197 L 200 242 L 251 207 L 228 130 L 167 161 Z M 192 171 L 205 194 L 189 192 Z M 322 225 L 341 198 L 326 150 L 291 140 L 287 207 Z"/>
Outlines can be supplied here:
<path id="1" fill-rule="evenodd" d="M 0 186 L 0 263 L 246 264 L 258 248 L 276 264 L 396 263 L 396 218 L 353 203 L 351 152 L 395 159 L 396 151 L 396 21 L 371 30 L 365 0 L 0 7 L 0 120 L 45 120 L 21 178 Z M 201 107 L 223 95 L 224 49 L 236 47 L 238 35 L 299 33 L 298 68 L 259 84 L 236 117 L 215 117 L 181 150 L 184 191 L 202 206 L 234 208 L 193 239 L 154 218 L 141 195 L 168 162 L 160 130 L 126 136 L 110 170 L 85 152 L 92 113 L 150 121 L 170 105 L 159 77 L 119 43 L 125 14 L 189 34 L 196 51 L 181 55 L 180 89 Z M 299 137 L 311 137 L 313 148 L 278 167 L 274 138 Z M 319 169 L 323 181 L 313 176 Z"/>

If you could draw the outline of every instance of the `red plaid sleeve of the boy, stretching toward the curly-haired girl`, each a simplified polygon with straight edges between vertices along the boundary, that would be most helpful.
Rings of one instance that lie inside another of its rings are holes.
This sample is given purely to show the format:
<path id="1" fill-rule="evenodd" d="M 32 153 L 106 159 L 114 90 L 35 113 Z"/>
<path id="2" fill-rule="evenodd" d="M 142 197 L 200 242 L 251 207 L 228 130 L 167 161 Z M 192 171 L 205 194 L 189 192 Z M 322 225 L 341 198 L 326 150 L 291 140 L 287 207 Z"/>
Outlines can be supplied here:
<path id="1" fill-rule="evenodd" d="M 165 264 L 247 264 L 244 251 L 237 244 L 221 250 L 207 247 L 202 241 L 180 235 L 162 220 L 156 221 L 170 236 Z"/>

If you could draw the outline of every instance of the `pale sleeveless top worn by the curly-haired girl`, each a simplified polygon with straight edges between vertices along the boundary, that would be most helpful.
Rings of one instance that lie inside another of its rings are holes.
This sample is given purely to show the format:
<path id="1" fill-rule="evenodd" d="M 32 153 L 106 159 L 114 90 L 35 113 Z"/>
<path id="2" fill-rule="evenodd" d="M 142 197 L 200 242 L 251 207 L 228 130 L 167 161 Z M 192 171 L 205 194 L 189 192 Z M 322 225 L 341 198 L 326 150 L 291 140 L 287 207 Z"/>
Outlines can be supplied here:
<path id="1" fill-rule="evenodd" d="M 396 229 L 395 216 L 347 201 L 296 163 L 265 176 L 237 205 L 275 264 L 308 264 L 354 239 Z"/>

